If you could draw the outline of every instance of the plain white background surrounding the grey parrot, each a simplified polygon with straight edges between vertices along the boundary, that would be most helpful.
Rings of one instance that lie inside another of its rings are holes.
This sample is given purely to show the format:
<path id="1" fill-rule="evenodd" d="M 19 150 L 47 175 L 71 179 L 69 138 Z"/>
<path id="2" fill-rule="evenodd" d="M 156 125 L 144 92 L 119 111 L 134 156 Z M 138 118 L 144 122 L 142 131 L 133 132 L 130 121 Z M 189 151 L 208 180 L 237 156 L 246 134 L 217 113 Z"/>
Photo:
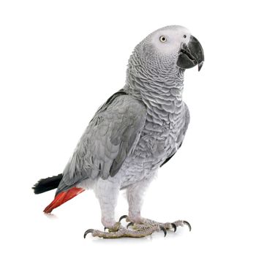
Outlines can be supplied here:
<path id="1" fill-rule="evenodd" d="M 253 1 L 1 1 L 1 255 L 255 255 L 255 21 Z M 99 105 L 124 86 L 132 49 L 170 24 L 192 31 L 206 61 L 185 73 L 191 123 L 143 216 L 187 219 L 192 232 L 83 240 L 102 228 L 93 192 L 48 218 L 54 192 L 31 187 L 62 172 Z"/>

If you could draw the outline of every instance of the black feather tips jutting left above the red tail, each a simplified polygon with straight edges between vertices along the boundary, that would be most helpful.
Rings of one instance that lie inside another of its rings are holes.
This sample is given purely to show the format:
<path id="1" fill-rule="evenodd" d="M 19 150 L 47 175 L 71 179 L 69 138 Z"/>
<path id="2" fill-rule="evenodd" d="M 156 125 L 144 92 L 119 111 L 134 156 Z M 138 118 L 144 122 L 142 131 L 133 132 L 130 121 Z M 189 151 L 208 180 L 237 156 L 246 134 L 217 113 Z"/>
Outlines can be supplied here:
<path id="1" fill-rule="evenodd" d="M 63 175 L 61 173 L 50 178 L 41 178 L 39 181 L 37 181 L 37 184 L 34 184 L 32 189 L 34 189 L 35 194 L 41 194 L 51 189 L 56 189 L 59 186 L 62 177 Z"/>

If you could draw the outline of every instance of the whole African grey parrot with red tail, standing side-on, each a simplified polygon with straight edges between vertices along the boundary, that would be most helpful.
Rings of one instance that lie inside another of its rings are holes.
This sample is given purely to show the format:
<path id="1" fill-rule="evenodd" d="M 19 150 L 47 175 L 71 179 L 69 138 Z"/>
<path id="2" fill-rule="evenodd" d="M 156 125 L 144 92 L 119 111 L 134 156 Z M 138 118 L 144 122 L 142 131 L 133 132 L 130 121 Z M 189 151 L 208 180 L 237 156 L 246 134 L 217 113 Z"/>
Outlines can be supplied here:
<path id="1" fill-rule="evenodd" d="M 189 124 L 182 101 L 184 71 L 203 65 L 200 42 L 182 26 L 166 26 L 149 34 L 133 51 L 126 83 L 102 105 L 75 148 L 62 174 L 41 179 L 36 194 L 57 188 L 54 208 L 85 189 L 99 200 L 102 224 L 108 232 L 87 230 L 92 236 L 143 237 L 156 230 L 175 231 L 189 222 L 155 222 L 140 216 L 143 192 L 181 146 Z M 118 193 L 126 189 L 129 214 L 116 222 Z M 121 219 L 130 222 L 121 225 Z"/>

